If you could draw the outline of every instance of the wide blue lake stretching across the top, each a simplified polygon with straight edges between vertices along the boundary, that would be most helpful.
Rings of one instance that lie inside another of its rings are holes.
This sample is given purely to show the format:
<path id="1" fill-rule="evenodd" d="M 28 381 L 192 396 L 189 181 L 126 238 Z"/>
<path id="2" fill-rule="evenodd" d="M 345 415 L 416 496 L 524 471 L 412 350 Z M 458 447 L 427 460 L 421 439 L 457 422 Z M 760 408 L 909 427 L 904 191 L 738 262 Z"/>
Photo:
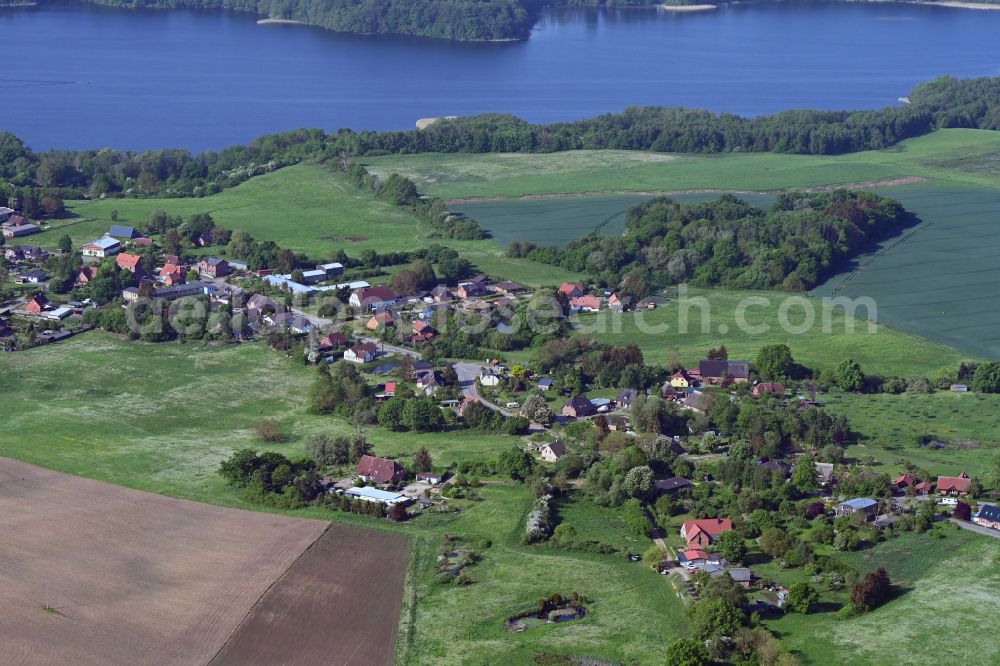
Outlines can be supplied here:
<path id="1" fill-rule="evenodd" d="M 875 108 L 935 76 L 1000 74 L 1000 11 L 888 3 L 552 9 L 530 40 L 496 44 L 67 4 L 0 9 L 0 34 L 0 129 L 35 149 L 219 149 L 298 127 L 635 104 Z"/>

